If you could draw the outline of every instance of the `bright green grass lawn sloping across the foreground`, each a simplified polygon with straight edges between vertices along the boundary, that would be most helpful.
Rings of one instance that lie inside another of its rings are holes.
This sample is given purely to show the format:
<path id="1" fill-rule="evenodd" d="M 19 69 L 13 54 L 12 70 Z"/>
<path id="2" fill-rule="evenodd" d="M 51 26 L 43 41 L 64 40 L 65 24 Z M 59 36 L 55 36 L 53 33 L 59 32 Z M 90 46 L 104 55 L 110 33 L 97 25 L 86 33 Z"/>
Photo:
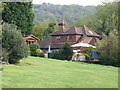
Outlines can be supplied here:
<path id="1" fill-rule="evenodd" d="M 3 88 L 118 88 L 112 66 L 28 57 L 3 68 Z"/>

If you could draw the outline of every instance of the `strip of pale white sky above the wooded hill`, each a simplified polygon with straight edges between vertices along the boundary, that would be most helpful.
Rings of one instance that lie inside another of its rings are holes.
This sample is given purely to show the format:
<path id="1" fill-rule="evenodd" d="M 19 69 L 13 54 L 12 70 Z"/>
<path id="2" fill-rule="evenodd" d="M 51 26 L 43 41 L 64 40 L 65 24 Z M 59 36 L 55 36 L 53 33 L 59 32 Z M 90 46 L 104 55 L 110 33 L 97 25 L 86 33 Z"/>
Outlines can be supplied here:
<path id="1" fill-rule="evenodd" d="M 82 6 L 87 5 L 100 5 L 102 1 L 107 0 L 33 0 L 33 4 L 42 4 L 42 3 L 51 3 L 51 4 L 60 4 L 60 5 L 69 5 L 69 4 L 78 4 Z M 113 0 L 109 0 L 113 1 Z"/>

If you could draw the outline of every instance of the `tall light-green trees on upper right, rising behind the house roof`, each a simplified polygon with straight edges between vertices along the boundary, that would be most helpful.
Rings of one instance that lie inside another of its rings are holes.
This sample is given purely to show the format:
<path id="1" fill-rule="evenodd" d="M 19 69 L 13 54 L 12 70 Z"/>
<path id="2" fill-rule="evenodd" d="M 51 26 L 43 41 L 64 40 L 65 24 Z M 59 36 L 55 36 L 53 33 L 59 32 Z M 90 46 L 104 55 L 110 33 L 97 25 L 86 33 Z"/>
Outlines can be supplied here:
<path id="1" fill-rule="evenodd" d="M 77 25 L 86 25 L 100 35 L 109 35 L 111 31 L 118 30 L 118 2 L 97 6 L 95 13 L 80 19 Z"/>

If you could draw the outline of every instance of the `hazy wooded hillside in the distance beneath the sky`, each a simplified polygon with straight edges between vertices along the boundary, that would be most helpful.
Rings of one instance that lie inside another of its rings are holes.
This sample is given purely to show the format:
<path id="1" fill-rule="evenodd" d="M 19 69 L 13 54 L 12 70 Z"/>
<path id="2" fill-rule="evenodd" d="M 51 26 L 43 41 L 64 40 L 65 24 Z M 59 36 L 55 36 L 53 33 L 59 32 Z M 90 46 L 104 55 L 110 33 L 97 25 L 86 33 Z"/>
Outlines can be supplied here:
<path id="1" fill-rule="evenodd" d="M 35 24 L 39 24 L 41 21 L 46 19 L 56 19 L 59 21 L 63 18 L 67 23 L 74 24 L 78 19 L 95 11 L 95 6 L 54 5 L 49 3 L 33 5 Z"/>

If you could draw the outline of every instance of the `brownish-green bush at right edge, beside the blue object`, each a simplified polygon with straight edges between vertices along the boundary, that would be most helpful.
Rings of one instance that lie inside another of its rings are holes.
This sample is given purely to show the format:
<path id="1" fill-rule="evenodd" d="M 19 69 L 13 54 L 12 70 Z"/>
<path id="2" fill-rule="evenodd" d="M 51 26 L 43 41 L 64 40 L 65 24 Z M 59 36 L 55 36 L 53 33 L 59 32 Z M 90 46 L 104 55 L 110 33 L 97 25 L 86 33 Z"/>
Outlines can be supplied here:
<path id="1" fill-rule="evenodd" d="M 104 36 L 101 41 L 97 43 L 97 49 L 101 53 L 103 64 L 120 66 L 118 55 L 120 54 L 118 47 L 118 36 L 110 35 Z"/>

